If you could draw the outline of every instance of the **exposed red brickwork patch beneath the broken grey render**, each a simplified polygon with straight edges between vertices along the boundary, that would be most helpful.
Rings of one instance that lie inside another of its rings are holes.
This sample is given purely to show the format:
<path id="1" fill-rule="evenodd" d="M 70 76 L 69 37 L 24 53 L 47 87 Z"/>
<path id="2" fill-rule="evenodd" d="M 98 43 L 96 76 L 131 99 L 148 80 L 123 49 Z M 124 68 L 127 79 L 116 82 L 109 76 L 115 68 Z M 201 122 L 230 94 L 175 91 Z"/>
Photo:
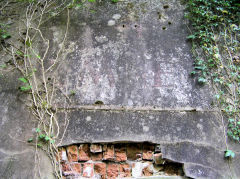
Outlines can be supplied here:
<path id="1" fill-rule="evenodd" d="M 162 159 L 159 145 L 148 143 L 79 144 L 58 153 L 67 179 L 183 175 L 181 164 Z"/>

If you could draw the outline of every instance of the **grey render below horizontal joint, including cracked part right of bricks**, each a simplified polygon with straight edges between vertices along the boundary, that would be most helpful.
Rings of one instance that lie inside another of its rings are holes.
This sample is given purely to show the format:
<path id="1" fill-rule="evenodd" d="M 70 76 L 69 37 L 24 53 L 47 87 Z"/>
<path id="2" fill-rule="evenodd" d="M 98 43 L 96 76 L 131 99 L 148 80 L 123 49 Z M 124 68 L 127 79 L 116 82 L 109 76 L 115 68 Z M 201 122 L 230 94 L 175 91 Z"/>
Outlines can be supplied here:
<path id="1" fill-rule="evenodd" d="M 189 177 L 214 179 L 231 175 L 228 161 L 224 160 L 223 126 L 217 112 L 72 110 L 68 119 L 62 146 L 150 142 L 160 144 L 163 158 L 184 164 Z M 59 120 L 65 124 L 64 113 Z"/>

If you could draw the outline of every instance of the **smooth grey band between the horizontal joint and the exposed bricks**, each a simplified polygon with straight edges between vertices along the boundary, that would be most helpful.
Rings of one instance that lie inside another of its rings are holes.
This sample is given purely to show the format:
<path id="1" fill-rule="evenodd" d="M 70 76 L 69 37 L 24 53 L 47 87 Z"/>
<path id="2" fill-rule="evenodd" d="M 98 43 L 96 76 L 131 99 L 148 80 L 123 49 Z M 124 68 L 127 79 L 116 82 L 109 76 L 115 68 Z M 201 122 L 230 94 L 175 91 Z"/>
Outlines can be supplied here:
<path id="1" fill-rule="evenodd" d="M 216 116 L 212 112 L 75 110 L 68 115 L 70 121 L 63 145 L 82 142 L 189 141 L 222 148 L 225 147 L 223 130 Z M 64 121 L 61 123 L 64 124 Z"/>

